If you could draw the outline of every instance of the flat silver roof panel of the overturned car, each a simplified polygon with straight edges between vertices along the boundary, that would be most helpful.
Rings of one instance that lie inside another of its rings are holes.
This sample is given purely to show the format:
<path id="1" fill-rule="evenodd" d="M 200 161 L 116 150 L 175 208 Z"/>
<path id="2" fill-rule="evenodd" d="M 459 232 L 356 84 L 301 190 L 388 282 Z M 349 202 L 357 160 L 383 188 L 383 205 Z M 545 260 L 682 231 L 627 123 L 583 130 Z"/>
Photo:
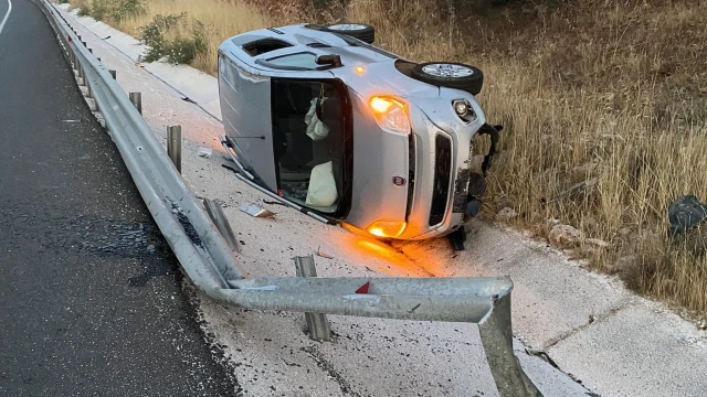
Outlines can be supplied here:
<path id="1" fill-rule="evenodd" d="M 239 160 L 262 184 L 277 191 L 271 120 L 271 78 L 233 54 L 219 53 L 223 127 Z"/>

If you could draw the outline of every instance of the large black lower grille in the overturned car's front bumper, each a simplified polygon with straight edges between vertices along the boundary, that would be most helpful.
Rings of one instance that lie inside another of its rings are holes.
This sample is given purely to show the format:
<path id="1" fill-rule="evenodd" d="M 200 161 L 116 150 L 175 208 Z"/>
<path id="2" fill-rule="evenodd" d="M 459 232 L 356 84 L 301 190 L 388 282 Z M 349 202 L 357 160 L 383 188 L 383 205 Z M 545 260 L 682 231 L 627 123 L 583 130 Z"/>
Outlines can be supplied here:
<path id="1" fill-rule="evenodd" d="M 452 141 L 443 136 L 435 139 L 434 186 L 430 208 L 430 226 L 442 223 L 446 213 L 452 178 Z"/>

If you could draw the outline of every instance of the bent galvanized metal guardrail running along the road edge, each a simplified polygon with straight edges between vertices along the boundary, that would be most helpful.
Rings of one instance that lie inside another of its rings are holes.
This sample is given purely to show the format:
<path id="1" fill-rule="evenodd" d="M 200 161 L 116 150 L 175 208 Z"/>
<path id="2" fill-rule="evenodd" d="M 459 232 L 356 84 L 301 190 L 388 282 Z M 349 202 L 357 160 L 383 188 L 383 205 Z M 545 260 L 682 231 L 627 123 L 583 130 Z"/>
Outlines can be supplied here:
<path id="1" fill-rule="evenodd" d="M 150 214 L 191 281 L 236 308 L 306 313 L 313 339 L 326 341 L 325 314 L 477 323 L 498 394 L 541 396 L 514 355 L 508 278 L 319 278 L 312 257 L 295 258 L 297 278 L 249 279 L 238 242 L 211 201 L 200 205 L 135 104 L 45 0 L 33 0 L 56 32 L 66 60 L 101 111 Z M 170 148 L 172 159 L 179 154 Z M 210 215 L 211 219 L 207 216 Z M 215 224 L 215 225 L 214 225 Z"/>

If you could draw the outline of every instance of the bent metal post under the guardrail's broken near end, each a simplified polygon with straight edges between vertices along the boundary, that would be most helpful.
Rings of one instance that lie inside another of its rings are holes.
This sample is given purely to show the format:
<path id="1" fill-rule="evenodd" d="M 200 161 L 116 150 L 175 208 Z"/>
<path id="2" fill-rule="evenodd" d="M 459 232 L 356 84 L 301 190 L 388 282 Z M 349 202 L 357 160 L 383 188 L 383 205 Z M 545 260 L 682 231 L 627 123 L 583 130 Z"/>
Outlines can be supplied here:
<path id="1" fill-rule="evenodd" d="M 520 367 L 513 353 L 513 326 L 510 322 L 510 293 L 494 298 L 494 311 L 481 324 L 478 333 L 502 397 L 538 397 L 542 394 Z"/>

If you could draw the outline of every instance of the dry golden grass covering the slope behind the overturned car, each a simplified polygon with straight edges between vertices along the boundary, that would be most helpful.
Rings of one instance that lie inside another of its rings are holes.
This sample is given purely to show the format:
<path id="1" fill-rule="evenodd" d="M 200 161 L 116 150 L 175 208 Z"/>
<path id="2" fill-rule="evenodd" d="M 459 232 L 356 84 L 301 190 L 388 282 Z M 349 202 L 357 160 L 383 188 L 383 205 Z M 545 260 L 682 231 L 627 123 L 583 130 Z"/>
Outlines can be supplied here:
<path id="1" fill-rule="evenodd" d="M 506 126 L 487 214 L 513 206 L 521 214 L 517 225 L 541 236 L 548 219 L 559 218 L 583 238 L 610 243 L 577 250 L 598 269 L 647 294 L 707 310 L 704 246 L 696 251 L 666 237 L 669 202 L 682 194 L 707 200 L 705 1 L 587 0 L 559 8 L 518 1 L 489 9 L 453 0 L 352 0 L 326 11 L 305 0 L 251 2 L 277 22 L 365 21 L 377 26 L 379 45 L 405 57 L 482 67 L 479 100 L 492 122 Z M 209 26 L 210 53 L 194 66 L 211 73 L 224 37 L 273 23 L 235 1 L 150 0 L 147 15 L 118 28 L 131 33 L 152 14 L 182 11 Z M 571 189 L 581 182 L 587 185 Z"/>

